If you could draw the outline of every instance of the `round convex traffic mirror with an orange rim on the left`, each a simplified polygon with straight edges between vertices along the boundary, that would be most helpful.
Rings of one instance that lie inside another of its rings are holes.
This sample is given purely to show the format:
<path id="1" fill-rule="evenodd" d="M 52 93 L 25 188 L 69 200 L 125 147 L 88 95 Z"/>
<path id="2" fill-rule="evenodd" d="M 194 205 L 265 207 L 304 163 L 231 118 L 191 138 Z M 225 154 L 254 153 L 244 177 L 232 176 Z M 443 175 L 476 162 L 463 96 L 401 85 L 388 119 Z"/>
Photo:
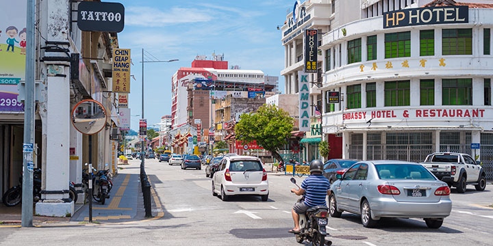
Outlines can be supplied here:
<path id="1" fill-rule="evenodd" d="M 82 100 L 72 109 L 73 126 L 86 135 L 93 135 L 103 130 L 107 117 L 106 109 L 95 100 Z"/>

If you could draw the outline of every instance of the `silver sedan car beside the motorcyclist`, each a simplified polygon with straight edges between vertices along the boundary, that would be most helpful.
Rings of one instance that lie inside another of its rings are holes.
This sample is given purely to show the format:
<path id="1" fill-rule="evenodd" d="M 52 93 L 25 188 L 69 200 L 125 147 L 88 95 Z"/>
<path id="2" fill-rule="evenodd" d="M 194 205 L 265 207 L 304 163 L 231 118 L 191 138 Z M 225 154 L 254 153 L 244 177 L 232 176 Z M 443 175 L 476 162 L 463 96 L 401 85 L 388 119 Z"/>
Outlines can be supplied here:
<path id="1" fill-rule="evenodd" d="M 355 213 L 364 227 L 382 217 L 414 217 L 440 228 L 452 210 L 450 188 L 418 163 L 362 161 L 337 178 L 329 197 L 331 217 Z"/>

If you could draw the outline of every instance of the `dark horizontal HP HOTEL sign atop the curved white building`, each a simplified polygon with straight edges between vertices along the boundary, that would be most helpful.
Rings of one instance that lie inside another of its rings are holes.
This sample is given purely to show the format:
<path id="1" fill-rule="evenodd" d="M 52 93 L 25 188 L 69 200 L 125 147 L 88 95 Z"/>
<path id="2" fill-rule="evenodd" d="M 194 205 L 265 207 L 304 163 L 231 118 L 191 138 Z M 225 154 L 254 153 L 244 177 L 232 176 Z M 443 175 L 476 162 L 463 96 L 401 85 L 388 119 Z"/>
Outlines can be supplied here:
<path id="1" fill-rule="evenodd" d="M 383 28 L 468 22 L 468 6 L 411 8 L 383 14 Z"/>

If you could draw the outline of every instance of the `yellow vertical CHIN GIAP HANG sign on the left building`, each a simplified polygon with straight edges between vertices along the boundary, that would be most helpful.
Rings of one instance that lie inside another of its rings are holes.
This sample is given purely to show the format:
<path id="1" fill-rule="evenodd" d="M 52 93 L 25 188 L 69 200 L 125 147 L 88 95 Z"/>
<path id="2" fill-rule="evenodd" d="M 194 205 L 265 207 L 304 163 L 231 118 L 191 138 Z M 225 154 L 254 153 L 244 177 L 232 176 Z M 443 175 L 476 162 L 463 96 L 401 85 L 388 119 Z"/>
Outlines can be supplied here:
<path id="1" fill-rule="evenodd" d="M 113 49 L 113 92 L 130 93 L 130 49 Z"/>

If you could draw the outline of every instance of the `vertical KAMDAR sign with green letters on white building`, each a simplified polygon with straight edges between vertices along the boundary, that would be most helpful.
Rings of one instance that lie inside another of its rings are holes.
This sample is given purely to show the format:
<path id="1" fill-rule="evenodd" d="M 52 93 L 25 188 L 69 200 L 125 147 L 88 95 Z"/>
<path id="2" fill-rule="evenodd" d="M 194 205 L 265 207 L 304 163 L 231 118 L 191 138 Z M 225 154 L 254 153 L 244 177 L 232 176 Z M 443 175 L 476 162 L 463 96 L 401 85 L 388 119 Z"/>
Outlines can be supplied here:
<path id="1" fill-rule="evenodd" d="M 306 72 L 298 71 L 299 131 L 310 131 L 309 82 Z"/>

